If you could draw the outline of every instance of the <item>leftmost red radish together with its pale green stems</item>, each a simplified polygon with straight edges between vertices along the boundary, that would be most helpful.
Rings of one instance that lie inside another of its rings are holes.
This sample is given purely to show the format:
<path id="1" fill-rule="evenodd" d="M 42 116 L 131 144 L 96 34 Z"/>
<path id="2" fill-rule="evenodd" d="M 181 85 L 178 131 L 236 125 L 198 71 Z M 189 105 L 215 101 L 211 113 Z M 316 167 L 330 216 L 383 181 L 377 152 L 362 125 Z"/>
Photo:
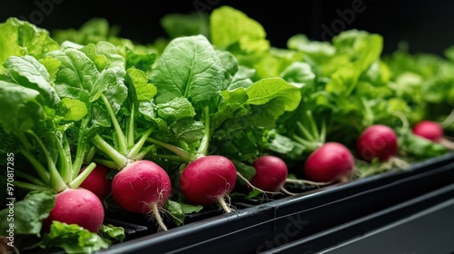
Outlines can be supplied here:
<path id="1" fill-rule="evenodd" d="M 54 208 L 50 211 L 49 216 L 43 220 L 42 230 L 49 231 L 51 224 L 54 220 L 64 222 L 66 224 L 77 224 L 85 230 L 98 232 L 104 222 L 104 207 L 102 201 L 90 190 L 79 188 L 80 184 L 87 178 L 87 176 L 94 171 L 96 164 L 90 163 L 84 171 L 78 173 L 79 170 L 69 163 L 71 161 L 69 148 L 64 149 L 63 144 L 57 147 L 59 160 L 64 161 L 60 165 L 60 170 L 57 170 L 51 152 L 47 150 L 44 145 L 44 140 L 33 131 L 28 131 L 44 153 L 44 160 L 47 162 L 47 171 L 44 165 L 35 158 L 31 151 L 22 149 L 21 153 L 25 158 L 32 163 L 37 171 L 40 179 L 34 177 L 23 177 L 31 182 L 25 183 L 22 181 L 15 181 L 15 185 L 28 190 L 54 190 L 55 203 Z M 52 137 L 56 141 L 56 137 Z M 23 140 L 29 143 L 27 140 Z M 80 169 L 80 168 L 77 168 Z M 78 173 L 78 174 L 76 174 Z M 75 178 L 72 176 L 76 175 Z"/>

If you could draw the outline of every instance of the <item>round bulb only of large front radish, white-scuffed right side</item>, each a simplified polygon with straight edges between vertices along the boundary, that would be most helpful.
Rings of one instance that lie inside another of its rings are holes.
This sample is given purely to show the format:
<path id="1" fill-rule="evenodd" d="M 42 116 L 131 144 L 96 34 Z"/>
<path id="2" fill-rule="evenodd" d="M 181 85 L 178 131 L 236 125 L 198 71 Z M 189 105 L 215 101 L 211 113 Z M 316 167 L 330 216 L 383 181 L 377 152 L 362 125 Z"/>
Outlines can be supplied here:
<path id="1" fill-rule="evenodd" d="M 124 210 L 148 214 L 153 205 L 163 207 L 171 194 L 169 175 L 153 161 L 134 161 L 112 181 L 112 195 Z"/>

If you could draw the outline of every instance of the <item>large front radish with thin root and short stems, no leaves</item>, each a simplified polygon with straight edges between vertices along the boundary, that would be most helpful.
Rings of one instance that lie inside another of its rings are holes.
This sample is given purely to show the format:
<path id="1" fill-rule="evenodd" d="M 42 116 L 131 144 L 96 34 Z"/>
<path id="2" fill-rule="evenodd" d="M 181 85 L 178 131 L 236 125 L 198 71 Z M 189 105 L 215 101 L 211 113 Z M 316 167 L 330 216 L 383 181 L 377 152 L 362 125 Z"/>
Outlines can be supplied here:
<path id="1" fill-rule="evenodd" d="M 103 96 L 103 95 L 102 95 Z M 109 105 L 106 103 L 106 105 Z M 112 181 L 112 196 L 114 201 L 123 210 L 140 214 L 153 214 L 162 230 L 167 230 L 160 215 L 165 202 L 170 197 L 171 181 L 166 171 L 153 161 L 143 160 L 145 154 L 150 151 L 149 148 L 143 149 L 143 144 L 148 136 L 153 132 L 153 128 L 143 132 L 139 141 L 134 142 L 134 135 L 124 135 L 117 122 L 114 114 L 111 119 L 116 126 L 117 147 L 114 147 L 96 134 L 94 136 L 94 145 L 109 157 L 112 161 L 95 158 L 94 161 L 104 164 L 109 168 L 117 169 Z M 132 118 L 133 119 L 133 118 Z M 131 121 L 133 121 L 131 119 Z M 129 125 L 129 133 L 133 133 L 133 122 Z M 127 148 L 123 144 L 132 144 Z M 165 211 L 165 210 L 163 210 Z"/>

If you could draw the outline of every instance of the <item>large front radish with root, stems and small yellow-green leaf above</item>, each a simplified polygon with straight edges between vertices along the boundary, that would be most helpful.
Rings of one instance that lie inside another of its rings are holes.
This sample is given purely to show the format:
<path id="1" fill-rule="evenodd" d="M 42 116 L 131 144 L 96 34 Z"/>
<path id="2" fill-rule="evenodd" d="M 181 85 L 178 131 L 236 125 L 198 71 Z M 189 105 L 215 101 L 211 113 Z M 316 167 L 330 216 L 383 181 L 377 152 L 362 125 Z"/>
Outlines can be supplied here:
<path id="1" fill-rule="evenodd" d="M 146 83 L 148 79 L 143 71 L 130 68 L 126 70 L 126 75 L 129 87 L 128 102 L 123 104 L 123 110 L 127 113 L 120 118 L 123 122 L 117 119 L 114 106 L 111 105 L 106 94 L 99 95 L 100 101 L 104 103 L 106 112 L 110 116 L 113 129 L 107 129 L 103 136 L 101 133 L 94 135 L 92 142 L 102 154 L 94 156 L 93 161 L 118 171 L 112 181 L 112 196 L 116 204 L 123 210 L 133 213 L 153 215 L 149 218 L 154 218 L 161 230 L 167 230 L 161 212 L 167 212 L 163 207 L 172 189 L 170 177 L 155 162 L 143 160 L 143 157 L 153 149 L 152 145 L 145 147 L 144 143 L 155 131 L 155 125 L 138 121 L 138 117 L 141 116 L 138 105 L 153 98 L 156 93 L 155 87 Z M 138 90 L 136 85 L 143 86 Z M 141 94 L 137 94 L 138 91 Z M 146 96 L 143 95 L 145 93 Z M 148 126 L 147 129 L 137 128 L 137 122 Z M 106 134 L 112 135 L 113 142 L 104 140 Z"/>

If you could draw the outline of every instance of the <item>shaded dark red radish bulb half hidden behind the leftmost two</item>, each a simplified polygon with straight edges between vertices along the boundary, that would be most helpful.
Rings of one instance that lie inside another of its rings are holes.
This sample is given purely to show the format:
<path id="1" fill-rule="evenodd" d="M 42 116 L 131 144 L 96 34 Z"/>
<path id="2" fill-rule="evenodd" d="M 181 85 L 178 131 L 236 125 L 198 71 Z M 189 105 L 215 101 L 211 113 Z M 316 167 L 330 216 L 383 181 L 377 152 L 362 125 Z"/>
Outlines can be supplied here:
<path id="1" fill-rule="evenodd" d="M 82 171 L 84 171 L 84 169 L 85 167 Z M 106 178 L 110 171 L 111 169 L 103 165 L 96 165 L 94 171 L 88 175 L 79 187 L 91 190 L 100 200 L 105 200 L 112 191 L 112 180 Z"/>

